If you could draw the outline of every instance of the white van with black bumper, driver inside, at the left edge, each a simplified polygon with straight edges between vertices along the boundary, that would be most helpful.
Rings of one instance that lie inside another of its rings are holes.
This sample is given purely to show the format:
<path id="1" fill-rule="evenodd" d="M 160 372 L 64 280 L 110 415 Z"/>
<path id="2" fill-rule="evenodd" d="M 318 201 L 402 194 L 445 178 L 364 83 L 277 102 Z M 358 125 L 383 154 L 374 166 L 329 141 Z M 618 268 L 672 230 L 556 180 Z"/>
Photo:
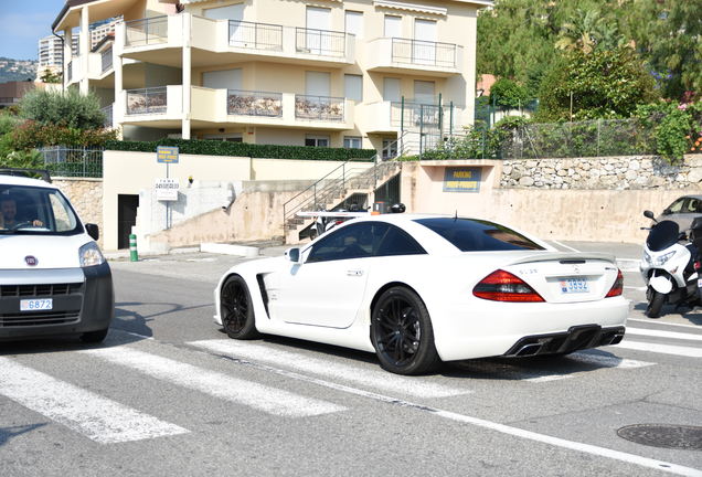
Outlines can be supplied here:
<path id="1" fill-rule="evenodd" d="M 0 170 L 0 341 L 105 339 L 115 293 L 98 234 L 51 183 Z"/>

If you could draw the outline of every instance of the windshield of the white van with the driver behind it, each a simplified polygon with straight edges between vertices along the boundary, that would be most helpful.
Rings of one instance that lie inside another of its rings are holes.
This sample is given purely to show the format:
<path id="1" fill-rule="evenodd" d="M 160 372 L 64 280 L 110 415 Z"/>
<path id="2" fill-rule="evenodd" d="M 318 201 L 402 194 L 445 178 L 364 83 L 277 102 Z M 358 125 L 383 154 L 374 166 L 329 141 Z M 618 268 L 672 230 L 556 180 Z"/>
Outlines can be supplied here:
<path id="1" fill-rule="evenodd" d="M 56 189 L 0 184 L 0 234 L 73 235 L 83 232 Z"/>

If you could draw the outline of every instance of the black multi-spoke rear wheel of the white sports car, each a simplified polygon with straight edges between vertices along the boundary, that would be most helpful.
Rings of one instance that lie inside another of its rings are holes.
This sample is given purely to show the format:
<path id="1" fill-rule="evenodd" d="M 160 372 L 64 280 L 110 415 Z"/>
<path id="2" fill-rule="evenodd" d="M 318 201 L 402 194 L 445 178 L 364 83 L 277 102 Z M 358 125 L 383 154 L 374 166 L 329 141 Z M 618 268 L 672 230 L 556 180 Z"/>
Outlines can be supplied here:
<path id="1" fill-rule="evenodd" d="M 381 367 L 393 373 L 427 373 L 440 362 L 429 312 L 419 296 L 405 287 L 389 288 L 377 299 L 371 341 Z"/>

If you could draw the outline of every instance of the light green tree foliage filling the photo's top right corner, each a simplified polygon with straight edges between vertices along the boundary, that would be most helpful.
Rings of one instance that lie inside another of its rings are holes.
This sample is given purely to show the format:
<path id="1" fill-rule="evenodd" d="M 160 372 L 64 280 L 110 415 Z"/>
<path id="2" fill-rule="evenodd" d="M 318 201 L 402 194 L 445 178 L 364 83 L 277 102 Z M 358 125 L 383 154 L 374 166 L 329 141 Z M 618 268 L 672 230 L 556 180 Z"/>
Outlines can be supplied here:
<path id="1" fill-rule="evenodd" d="M 626 28 L 664 97 L 702 93 L 702 0 L 627 0 Z"/>

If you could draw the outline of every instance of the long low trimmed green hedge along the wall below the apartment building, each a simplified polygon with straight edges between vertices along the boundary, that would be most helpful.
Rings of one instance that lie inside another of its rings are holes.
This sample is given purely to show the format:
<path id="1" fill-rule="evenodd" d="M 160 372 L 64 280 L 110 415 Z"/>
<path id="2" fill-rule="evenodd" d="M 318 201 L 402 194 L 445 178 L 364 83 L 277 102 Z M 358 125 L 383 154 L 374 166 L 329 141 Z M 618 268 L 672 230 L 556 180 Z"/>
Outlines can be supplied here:
<path id="1" fill-rule="evenodd" d="M 305 146 L 253 145 L 220 140 L 161 139 L 158 141 L 118 141 L 105 144 L 106 150 L 156 152 L 158 146 L 177 146 L 180 153 L 237 156 L 269 159 L 306 159 L 332 161 L 371 161 L 374 149 L 319 148 Z"/>

